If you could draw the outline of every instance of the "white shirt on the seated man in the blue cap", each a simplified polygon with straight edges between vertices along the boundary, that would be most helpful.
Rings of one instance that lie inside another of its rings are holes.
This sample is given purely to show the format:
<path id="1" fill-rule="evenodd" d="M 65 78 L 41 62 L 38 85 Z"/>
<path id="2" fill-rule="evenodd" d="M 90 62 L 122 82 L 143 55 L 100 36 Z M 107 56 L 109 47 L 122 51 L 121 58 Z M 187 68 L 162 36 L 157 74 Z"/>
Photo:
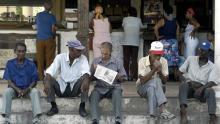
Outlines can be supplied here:
<path id="1" fill-rule="evenodd" d="M 198 56 L 189 56 L 179 70 L 183 72 L 187 82 L 195 81 L 203 85 L 210 81 L 215 84 L 220 82 L 217 67 L 211 61 L 200 67 Z"/>

